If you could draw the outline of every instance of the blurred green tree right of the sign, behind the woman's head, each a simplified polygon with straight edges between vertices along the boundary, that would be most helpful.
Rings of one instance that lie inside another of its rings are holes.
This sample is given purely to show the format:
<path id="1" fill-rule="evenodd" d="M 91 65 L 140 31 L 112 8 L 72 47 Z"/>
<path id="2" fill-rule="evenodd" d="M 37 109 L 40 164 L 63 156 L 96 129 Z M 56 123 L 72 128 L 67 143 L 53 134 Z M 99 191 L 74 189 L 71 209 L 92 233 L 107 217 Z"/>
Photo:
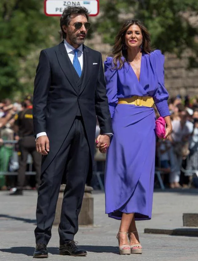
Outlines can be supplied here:
<path id="1" fill-rule="evenodd" d="M 106 43 L 114 43 L 124 19 L 136 18 L 144 22 L 152 45 L 162 52 L 179 57 L 189 48 L 198 54 L 198 29 L 188 19 L 198 13 L 197 0 L 103 0 L 100 5 L 102 15 L 95 26 Z"/>

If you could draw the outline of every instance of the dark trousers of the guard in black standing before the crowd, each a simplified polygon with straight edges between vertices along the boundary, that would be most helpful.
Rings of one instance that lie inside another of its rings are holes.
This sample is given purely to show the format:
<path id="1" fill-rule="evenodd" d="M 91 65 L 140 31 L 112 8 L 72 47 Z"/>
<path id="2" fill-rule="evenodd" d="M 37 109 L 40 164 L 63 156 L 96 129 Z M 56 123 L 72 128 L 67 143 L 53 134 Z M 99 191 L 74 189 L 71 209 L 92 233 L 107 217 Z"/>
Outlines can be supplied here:
<path id="1" fill-rule="evenodd" d="M 41 155 L 36 151 L 35 137 L 27 136 L 21 138 L 19 141 L 19 169 L 17 177 L 17 188 L 23 189 L 25 184 L 25 171 L 27 167 L 28 154 L 32 155 L 34 168 L 36 171 L 36 185 L 40 185 L 40 166 L 41 166 Z"/>

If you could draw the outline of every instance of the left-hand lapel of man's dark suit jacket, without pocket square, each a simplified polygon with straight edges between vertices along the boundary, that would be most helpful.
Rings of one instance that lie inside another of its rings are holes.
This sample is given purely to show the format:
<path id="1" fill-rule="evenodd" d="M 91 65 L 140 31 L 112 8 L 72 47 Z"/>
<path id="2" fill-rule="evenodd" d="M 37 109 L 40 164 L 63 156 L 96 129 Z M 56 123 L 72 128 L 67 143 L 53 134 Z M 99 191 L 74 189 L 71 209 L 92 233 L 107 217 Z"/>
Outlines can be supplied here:
<path id="1" fill-rule="evenodd" d="M 56 52 L 56 55 L 61 69 L 63 70 L 71 86 L 74 88 L 75 92 L 78 94 L 79 89 L 74 77 L 74 72 L 72 70 L 73 65 L 71 64 L 70 58 L 67 54 L 64 42 L 59 44 L 59 51 Z"/>

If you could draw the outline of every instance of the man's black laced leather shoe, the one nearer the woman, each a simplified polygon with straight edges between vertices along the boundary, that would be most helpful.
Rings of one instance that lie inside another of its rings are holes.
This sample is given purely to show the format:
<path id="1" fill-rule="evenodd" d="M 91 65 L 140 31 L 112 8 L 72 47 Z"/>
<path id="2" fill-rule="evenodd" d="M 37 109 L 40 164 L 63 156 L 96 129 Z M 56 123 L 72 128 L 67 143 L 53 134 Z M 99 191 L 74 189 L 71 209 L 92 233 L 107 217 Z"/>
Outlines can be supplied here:
<path id="1" fill-rule="evenodd" d="M 59 254 L 60 255 L 71 255 L 71 256 L 85 256 L 87 252 L 85 250 L 81 250 L 77 247 L 78 242 L 68 241 L 64 245 L 60 245 Z"/>

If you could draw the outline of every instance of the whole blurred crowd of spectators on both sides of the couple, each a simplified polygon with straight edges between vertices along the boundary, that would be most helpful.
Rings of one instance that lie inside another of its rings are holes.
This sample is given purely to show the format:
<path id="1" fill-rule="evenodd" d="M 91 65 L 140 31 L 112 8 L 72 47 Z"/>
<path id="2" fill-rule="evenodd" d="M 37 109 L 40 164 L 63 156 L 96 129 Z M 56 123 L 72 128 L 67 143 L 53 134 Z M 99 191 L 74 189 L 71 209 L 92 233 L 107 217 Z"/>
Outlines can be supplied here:
<path id="1" fill-rule="evenodd" d="M 189 188 L 197 187 L 198 175 L 198 99 L 184 99 L 180 95 L 170 98 L 169 110 L 172 119 L 173 132 L 169 140 L 156 142 L 156 169 L 160 169 L 166 187 Z M 7 140 L 19 140 L 15 133 L 16 115 L 26 108 L 25 102 L 4 99 L 0 102 L 0 189 L 10 189 L 15 186 L 16 178 L 1 173 L 16 171 L 18 164 L 13 160 L 13 152 L 17 144 Z M 155 110 L 156 111 L 156 110 Z M 156 111 L 156 118 L 158 118 Z M 96 137 L 99 127 L 96 129 Z M 99 154 L 98 151 L 96 151 Z M 98 157 L 98 156 L 97 156 Z M 105 160 L 104 155 L 99 155 Z M 103 165 L 104 166 L 104 165 Z M 32 177 L 31 177 L 32 179 Z M 27 177 L 27 187 L 34 187 Z"/>

